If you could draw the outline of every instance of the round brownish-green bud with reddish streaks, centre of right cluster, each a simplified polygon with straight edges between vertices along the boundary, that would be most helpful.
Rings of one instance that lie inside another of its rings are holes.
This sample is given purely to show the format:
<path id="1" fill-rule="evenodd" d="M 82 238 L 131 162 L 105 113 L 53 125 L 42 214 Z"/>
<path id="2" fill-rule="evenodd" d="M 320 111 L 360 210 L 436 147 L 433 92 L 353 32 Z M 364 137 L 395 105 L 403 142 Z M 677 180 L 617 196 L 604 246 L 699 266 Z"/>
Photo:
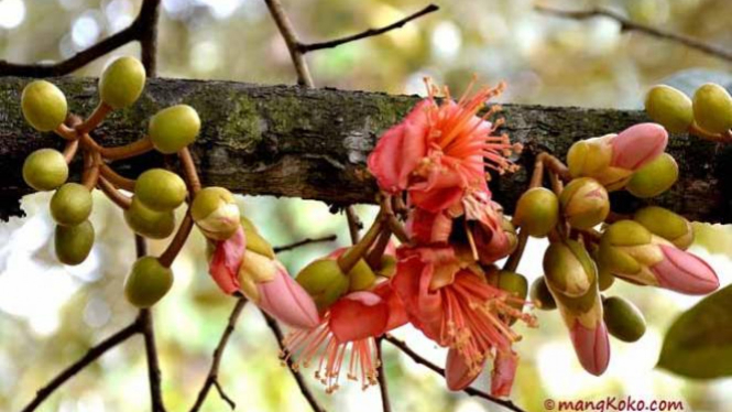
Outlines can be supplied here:
<path id="1" fill-rule="evenodd" d="M 590 229 L 610 213 L 608 191 L 590 177 L 569 182 L 559 196 L 559 203 L 567 223 L 576 229 Z"/>

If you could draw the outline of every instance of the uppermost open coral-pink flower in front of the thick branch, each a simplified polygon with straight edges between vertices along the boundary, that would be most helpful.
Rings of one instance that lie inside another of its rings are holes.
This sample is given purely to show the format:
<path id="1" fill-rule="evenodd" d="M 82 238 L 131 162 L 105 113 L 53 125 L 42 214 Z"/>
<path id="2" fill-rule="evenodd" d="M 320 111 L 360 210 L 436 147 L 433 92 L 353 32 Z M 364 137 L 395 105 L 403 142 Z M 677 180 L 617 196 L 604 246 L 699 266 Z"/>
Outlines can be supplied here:
<path id="1" fill-rule="evenodd" d="M 467 188 L 487 191 L 485 167 L 513 169 L 505 155 L 520 147 L 507 135 L 492 135 L 495 127 L 485 118 L 495 110 L 477 116 L 502 86 L 458 102 L 446 93 L 439 105 L 436 87 L 428 89 L 429 97 L 381 137 L 368 165 L 383 191 L 408 191 L 412 204 L 436 213 L 459 202 Z"/>

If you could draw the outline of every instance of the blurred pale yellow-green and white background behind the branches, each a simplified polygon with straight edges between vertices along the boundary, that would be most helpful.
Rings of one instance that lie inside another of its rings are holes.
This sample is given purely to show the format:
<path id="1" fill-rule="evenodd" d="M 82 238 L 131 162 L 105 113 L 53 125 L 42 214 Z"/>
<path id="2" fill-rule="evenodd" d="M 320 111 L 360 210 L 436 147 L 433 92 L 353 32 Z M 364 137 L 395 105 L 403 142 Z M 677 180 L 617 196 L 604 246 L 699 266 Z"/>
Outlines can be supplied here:
<path id="1" fill-rule="evenodd" d="M 575 22 L 538 14 L 529 0 L 445 0 L 441 10 L 386 35 L 307 56 L 318 86 L 423 93 L 431 76 L 459 91 L 473 73 L 485 83 L 509 83 L 503 101 L 637 108 L 644 90 L 669 76 L 679 84 L 707 78 L 730 83 L 730 63 L 637 33 L 621 33 L 609 19 Z M 719 44 L 732 44 L 728 0 L 549 1 L 582 9 L 612 7 L 632 19 Z M 328 40 L 390 23 L 426 3 L 405 0 L 287 0 L 284 6 L 304 41 Z M 125 28 L 140 1 L 0 0 L 0 58 L 57 61 Z M 261 0 L 163 0 L 160 74 L 260 84 L 292 84 L 287 51 Z M 75 75 L 96 76 L 113 56 L 136 55 L 129 45 Z M 681 73 L 681 75 L 679 75 Z M 205 119 L 204 119 L 205 121 Z M 681 160 L 682 161 L 682 160 Z M 132 236 L 121 214 L 96 197 L 92 223 L 97 243 L 79 267 L 55 262 L 48 195 L 23 200 L 26 217 L 0 225 L 0 410 L 15 411 L 89 346 L 131 322 L 135 311 L 122 296 L 133 261 Z M 325 204 L 266 197 L 240 198 L 245 214 L 274 245 L 337 234 L 346 245 L 342 215 Z M 360 207 L 364 219 L 374 210 Z M 730 229 L 698 226 L 693 251 L 710 259 L 722 283 L 730 282 Z M 726 236 L 720 235 L 726 234 Z M 153 242 L 160 251 L 165 242 Z M 282 253 L 296 272 L 336 245 L 314 245 Z M 704 249 L 703 246 L 711 246 Z M 532 242 L 520 272 L 540 272 L 540 242 Z M 712 254 L 713 253 L 713 254 Z M 206 274 L 200 236 L 188 241 L 174 264 L 172 293 L 154 311 L 162 356 L 163 390 L 171 411 L 187 410 L 207 373 L 211 351 L 233 301 Z M 613 340 L 608 372 L 596 378 L 578 365 L 556 312 L 538 312 L 540 327 L 524 329 L 517 346 L 522 364 L 513 398 L 527 411 L 544 411 L 545 399 L 601 400 L 607 395 L 681 400 L 687 411 L 732 410 L 732 380 L 689 381 L 654 369 L 663 335 L 697 299 L 616 282 L 610 294 L 632 299 L 646 314 L 648 332 L 634 345 Z M 395 333 L 441 364 L 444 351 L 411 328 Z M 385 364 L 396 411 L 499 411 L 500 408 L 450 393 L 444 382 L 385 344 Z M 309 376 L 309 373 L 308 373 Z M 222 362 L 220 381 L 245 411 L 307 410 L 258 311 L 248 307 Z M 378 389 L 345 386 L 317 397 L 334 411 L 380 409 Z M 488 387 L 482 377 L 478 386 Z M 142 340 L 132 338 L 57 391 L 41 411 L 143 411 L 149 392 Z M 211 391 L 205 411 L 228 406 Z"/>

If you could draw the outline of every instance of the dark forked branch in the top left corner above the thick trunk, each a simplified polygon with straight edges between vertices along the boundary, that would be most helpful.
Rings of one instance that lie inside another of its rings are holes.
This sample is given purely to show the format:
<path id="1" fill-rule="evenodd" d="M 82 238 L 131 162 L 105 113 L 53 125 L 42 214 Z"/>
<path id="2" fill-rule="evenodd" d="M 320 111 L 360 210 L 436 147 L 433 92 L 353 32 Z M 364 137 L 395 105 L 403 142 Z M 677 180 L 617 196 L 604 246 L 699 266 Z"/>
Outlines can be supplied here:
<path id="1" fill-rule="evenodd" d="M 72 57 L 57 63 L 18 64 L 0 61 L 0 76 L 51 77 L 67 75 L 127 43 L 139 40 L 143 46 L 142 61 L 149 76 L 154 76 L 155 30 L 160 0 L 144 0 L 140 13 L 127 29 Z M 152 74 L 151 74 L 152 71 Z"/>

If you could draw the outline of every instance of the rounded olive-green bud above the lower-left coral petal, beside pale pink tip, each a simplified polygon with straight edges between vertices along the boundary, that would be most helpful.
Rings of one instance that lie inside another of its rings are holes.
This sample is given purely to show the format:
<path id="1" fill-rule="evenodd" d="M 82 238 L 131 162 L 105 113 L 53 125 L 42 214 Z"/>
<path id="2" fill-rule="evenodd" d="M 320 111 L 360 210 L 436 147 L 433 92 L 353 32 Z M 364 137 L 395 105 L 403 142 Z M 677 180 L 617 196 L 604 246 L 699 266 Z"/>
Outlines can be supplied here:
<path id="1" fill-rule="evenodd" d="M 306 265 L 295 281 L 313 296 L 318 312 L 324 312 L 340 296 L 348 293 L 347 277 L 334 259 L 318 259 Z"/>

